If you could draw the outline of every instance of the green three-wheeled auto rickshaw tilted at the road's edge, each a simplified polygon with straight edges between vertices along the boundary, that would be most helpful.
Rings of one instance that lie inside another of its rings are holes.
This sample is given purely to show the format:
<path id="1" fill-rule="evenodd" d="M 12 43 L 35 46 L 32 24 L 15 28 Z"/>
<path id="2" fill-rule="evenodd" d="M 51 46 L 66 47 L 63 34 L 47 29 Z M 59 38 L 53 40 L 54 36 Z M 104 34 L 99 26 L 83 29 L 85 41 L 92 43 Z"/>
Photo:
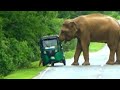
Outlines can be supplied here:
<path id="1" fill-rule="evenodd" d="M 43 66 L 61 62 L 66 65 L 63 47 L 59 36 L 44 36 L 40 39 L 41 63 Z M 40 64 L 41 64 L 40 63 Z"/>

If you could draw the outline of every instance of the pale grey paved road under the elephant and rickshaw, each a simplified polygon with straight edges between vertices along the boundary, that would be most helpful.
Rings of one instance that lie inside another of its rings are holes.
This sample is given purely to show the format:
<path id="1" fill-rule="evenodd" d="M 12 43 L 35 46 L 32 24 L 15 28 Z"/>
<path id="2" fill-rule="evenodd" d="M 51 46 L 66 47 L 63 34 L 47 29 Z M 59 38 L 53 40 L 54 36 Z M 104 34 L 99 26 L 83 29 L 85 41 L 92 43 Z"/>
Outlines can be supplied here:
<path id="1" fill-rule="evenodd" d="M 33 79 L 120 79 L 120 65 L 106 65 L 109 49 L 90 53 L 90 66 L 82 66 L 83 56 L 79 58 L 79 66 L 71 66 L 73 58 L 66 60 L 66 66 L 56 63 L 48 67 Z"/>

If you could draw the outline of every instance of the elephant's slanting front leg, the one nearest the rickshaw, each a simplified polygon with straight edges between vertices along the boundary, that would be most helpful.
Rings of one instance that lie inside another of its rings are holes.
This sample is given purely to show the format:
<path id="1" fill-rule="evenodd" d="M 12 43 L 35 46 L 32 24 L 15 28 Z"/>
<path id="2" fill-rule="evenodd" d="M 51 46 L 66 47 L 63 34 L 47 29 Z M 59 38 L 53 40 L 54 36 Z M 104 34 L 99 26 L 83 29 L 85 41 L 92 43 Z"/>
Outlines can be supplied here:
<path id="1" fill-rule="evenodd" d="M 82 52 L 81 42 L 78 40 L 75 55 L 74 55 L 74 62 L 72 63 L 72 65 L 79 65 L 78 60 L 81 52 Z"/>

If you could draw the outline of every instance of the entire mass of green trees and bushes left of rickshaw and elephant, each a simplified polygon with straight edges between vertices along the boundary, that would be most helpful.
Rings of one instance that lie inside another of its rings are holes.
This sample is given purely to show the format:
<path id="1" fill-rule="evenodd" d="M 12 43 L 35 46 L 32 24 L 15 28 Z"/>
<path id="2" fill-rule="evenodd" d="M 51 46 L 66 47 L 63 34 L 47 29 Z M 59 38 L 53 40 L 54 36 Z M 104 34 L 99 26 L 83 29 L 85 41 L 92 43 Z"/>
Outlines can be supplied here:
<path id="1" fill-rule="evenodd" d="M 59 33 L 63 19 L 57 16 L 57 11 L 0 11 L 0 74 L 40 59 L 39 39 Z"/>

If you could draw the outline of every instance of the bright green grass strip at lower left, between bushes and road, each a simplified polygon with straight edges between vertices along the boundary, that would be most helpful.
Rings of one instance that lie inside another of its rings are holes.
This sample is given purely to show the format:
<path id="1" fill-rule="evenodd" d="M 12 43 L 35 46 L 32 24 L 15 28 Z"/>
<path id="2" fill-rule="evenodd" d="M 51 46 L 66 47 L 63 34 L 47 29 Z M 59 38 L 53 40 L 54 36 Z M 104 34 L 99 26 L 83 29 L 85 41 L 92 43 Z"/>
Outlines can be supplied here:
<path id="1" fill-rule="evenodd" d="M 31 68 L 14 71 L 8 76 L 4 77 L 4 79 L 32 79 L 39 74 L 40 71 L 46 68 L 43 66 L 39 67 L 38 64 L 39 61 L 33 62 Z"/>

